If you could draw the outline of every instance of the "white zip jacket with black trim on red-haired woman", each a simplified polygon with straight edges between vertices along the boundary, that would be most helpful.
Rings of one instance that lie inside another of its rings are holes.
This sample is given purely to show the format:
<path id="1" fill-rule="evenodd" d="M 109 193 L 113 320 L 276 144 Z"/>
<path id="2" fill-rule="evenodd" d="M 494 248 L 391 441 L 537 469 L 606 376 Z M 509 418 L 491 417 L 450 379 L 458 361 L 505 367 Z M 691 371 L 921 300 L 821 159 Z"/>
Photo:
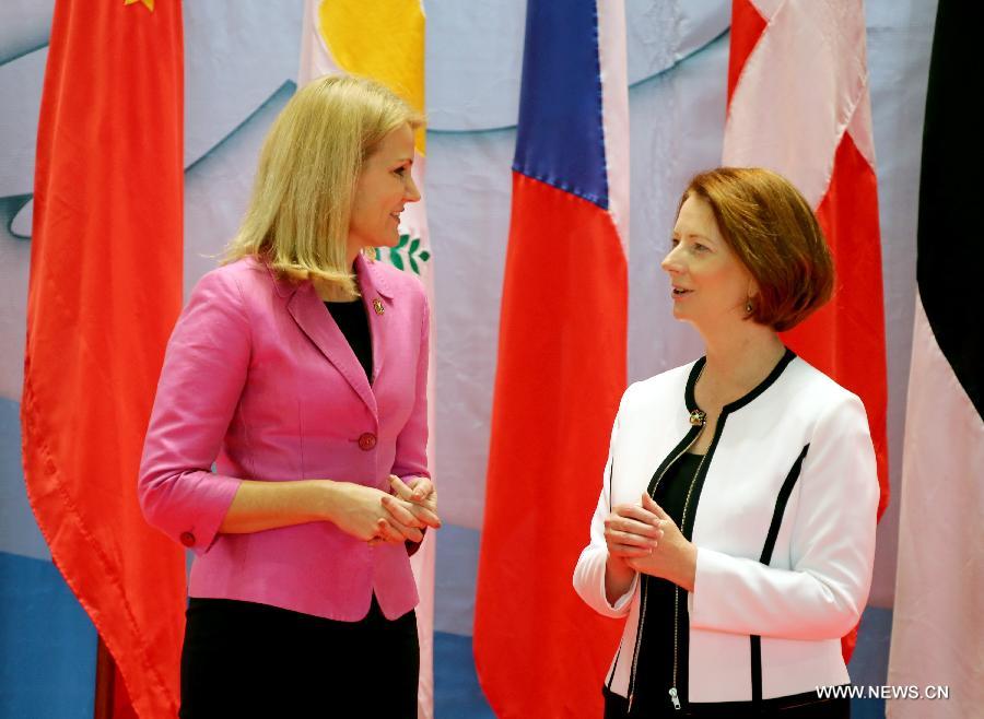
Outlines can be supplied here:
<path id="1" fill-rule="evenodd" d="M 637 504 L 696 437 L 690 413 L 703 364 L 625 391 L 590 543 L 574 570 L 587 604 L 628 616 L 607 682 L 622 696 L 645 681 L 633 677 L 645 613 L 637 576 L 614 604 L 606 599 L 602 522 L 614 505 Z M 689 694 L 681 699 L 741 702 L 850 682 L 840 638 L 867 601 L 878 494 L 860 400 L 792 352 L 723 409 L 681 528 L 698 547 L 687 594 Z"/>

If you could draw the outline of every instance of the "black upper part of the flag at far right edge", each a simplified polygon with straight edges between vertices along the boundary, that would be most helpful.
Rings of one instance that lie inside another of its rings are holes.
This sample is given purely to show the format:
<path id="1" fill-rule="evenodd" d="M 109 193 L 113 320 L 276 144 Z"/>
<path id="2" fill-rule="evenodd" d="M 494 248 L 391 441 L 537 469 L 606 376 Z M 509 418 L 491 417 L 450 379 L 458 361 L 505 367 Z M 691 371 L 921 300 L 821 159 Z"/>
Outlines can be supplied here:
<path id="1" fill-rule="evenodd" d="M 984 417 L 984 96 L 980 2 L 939 0 L 919 179 L 916 280 L 929 326 Z"/>

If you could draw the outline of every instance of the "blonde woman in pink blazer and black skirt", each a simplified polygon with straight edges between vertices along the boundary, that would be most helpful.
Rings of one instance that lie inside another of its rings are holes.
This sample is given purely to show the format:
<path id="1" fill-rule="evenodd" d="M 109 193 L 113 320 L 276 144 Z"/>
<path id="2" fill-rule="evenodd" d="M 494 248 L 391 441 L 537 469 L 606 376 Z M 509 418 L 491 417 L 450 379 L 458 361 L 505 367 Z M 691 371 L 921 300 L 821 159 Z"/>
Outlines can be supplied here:
<path id="1" fill-rule="evenodd" d="M 336 716 L 353 700 L 417 716 L 408 554 L 440 526 L 429 310 L 417 279 L 372 248 L 397 244 L 420 199 L 421 123 L 367 80 L 297 92 L 222 267 L 168 343 L 140 498 L 196 554 L 186 719 Z"/>

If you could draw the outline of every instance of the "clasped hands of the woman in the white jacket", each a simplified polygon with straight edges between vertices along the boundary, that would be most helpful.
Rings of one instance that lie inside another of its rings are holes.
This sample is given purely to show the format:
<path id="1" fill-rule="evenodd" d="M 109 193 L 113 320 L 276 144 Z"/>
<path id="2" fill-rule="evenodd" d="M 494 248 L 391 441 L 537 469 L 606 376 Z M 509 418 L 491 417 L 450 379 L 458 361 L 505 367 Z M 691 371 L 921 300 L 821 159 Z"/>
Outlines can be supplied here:
<path id="1" fill-rule="evenodd" d="M 696 547 L 647 494 L 640 505 L 618 505 L 605 519 L 609 557 L 630 569 L 693 589 Z"/>

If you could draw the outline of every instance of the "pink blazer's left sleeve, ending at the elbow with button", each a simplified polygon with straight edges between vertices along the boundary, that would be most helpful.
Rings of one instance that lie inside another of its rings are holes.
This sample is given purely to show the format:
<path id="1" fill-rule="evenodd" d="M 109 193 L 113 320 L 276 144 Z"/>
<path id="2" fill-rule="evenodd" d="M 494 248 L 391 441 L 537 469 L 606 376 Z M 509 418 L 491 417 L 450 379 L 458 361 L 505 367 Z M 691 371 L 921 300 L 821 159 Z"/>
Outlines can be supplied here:
<path id="1" fill-rule="evenodd" d="M 242 482 L 211 467 L 239 401 L 249 354 L 235 278 L 210 272 L 167 343 L 138 480 L 147 520 L 198 554 L 211 546 Z"/>

